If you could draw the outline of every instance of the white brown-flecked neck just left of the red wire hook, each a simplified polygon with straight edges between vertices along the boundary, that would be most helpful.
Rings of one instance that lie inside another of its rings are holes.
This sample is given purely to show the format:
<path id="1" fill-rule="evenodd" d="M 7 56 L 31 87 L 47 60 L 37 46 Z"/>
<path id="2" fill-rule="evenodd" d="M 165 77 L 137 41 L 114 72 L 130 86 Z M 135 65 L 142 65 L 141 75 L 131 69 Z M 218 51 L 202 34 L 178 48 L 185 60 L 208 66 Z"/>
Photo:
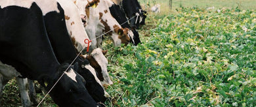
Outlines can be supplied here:
<path id="1" fill-rule="evenodd" d="M 85 28 L 83 26 L 83 22 L 81 21 L 81 13 L 79 14 L 79 9 L 77 8 L 71 0 L 57 0 L 60 3 L 61 7 L 64 9 L 65 16 L 68 16 L 68 20 L 66 19 L 66 27 L 68 29 L 68 33 L 70 33 L 70 37 L 75 40 L 75 48 L 77 51 L 83 50 L 84 47 L 87 47 L 84 40 L 89 38 Z M 76 3 L 79 2 L 81 5 L 82 0 L 77 0 Z M 85 1 L 84 1 L 85 3 Z M 80 8 L 85 8 L 85 6 L 81 6 Z M 85 12 L 84 12 L 85 15 Z M 72 25 L 70 23 L 73 23 Z M 72 34 L 71 34 L 72 33 Z M 90 44 L 91 45 L 91 44 Z"/>

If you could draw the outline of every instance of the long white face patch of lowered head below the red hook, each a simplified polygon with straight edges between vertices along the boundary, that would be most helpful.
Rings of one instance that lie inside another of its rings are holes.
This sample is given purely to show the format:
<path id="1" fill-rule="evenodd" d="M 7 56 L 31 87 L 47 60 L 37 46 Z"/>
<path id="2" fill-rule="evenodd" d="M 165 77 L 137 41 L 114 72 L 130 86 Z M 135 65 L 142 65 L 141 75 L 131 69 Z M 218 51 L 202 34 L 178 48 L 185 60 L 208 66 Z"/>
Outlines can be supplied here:
<path id="1" fill-rule="evenodd" d="M 100 65 L 101 73 L 104 78 L 103 83 L 112 85 L 113 82 L 110 80 L 110 76 L 108 75 L 107 66 L 108 66 L 108 59 L 103 55 L 102 50 L 100 48 L 96 48 L 91 52 L 91 55 L 97 61 L 98 65 Z"/>

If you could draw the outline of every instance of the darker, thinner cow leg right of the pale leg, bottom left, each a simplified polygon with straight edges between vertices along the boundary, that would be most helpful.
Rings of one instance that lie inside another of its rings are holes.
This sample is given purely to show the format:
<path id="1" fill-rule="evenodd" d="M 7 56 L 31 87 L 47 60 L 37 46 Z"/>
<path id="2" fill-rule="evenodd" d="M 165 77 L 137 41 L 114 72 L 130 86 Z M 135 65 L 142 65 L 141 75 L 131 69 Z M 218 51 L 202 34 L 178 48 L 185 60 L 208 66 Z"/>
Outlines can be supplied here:
<path id="1" fill-rule="evenodd" d="M 37 99 L 37 95 L 35 93 L 35 85 L 33 84 L 33 80 L 28 79 L 28 89 L 30 90 L 30 100 L 33 105 L 37 105 L 39 100 Z"/>

